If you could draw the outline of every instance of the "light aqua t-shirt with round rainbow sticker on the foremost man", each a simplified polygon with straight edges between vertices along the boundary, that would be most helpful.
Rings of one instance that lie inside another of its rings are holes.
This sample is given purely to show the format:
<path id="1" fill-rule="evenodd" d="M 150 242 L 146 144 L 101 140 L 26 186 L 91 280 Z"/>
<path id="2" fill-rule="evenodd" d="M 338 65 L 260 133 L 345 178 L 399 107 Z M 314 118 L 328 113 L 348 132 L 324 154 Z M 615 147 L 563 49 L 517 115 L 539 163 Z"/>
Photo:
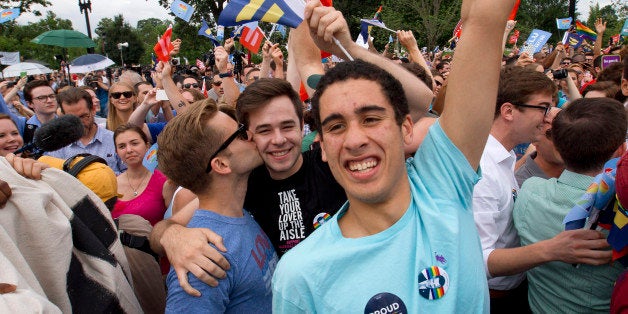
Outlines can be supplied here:
<path id="1" fill-rule="evenodd" d="M 274 313 L 486 313 L 488 285 L 471 211 L 479 176 L 436 122 L 406 162 L 412 200 L 388 229 L 345 238 L 338 218 L 284 255 Z"/>

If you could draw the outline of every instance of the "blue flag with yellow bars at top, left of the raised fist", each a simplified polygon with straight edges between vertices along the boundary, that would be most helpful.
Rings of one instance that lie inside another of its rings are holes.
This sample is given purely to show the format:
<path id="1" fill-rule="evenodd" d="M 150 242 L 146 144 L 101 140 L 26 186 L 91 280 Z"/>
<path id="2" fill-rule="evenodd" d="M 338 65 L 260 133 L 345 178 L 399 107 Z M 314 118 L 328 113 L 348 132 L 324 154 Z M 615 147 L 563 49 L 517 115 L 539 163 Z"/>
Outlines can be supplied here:
<path id="1" fill-rule="evenodd" d="M 277 23 L 296 28 L 303 21 L 301 0 L 231 0 L 218 17 L 218 24 L 236 26 L 250 21 Z"/>

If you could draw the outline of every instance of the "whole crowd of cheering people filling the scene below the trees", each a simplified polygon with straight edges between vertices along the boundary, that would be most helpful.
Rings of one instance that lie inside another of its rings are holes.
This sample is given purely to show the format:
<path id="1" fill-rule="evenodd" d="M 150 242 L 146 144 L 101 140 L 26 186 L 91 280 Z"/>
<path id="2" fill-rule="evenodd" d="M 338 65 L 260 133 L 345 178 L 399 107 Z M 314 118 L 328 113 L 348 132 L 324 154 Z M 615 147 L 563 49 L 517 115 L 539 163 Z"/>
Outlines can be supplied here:
<path id="1" fill-rule="evenodd" d="M 285 58 L 232 63 L 229 38 L 204 69 L 3 80 L 0 309 L 628 311 L 608 232 L 563 224 L 628 160 L 628 48 L 598 19 L 591 51 L 505 54 L 513 2 L 464 0 L 453 57 L 365 49 L 310 1 Z M 50 150 L 63 116 L 82 132 Z M 55 259 L 21 245 L 30 204 Z"/>

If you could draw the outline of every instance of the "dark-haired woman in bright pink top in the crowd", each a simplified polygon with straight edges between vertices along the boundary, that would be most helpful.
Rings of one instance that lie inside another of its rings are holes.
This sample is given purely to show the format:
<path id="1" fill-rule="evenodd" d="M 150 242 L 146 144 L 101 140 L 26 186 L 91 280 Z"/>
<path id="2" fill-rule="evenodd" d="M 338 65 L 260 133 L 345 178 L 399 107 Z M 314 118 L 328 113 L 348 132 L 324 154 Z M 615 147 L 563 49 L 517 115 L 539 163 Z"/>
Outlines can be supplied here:
<path id="1" fill-rule="evenodd" d="M 159 170 L 151 173 L 142 164 L 150 142 L 141 128 L 123 124 L 115 130 L 113 140 L 116 153 L 128 168 L 118 176 L 118 194 L 121 196 L 111 216 L 139 215 L 155 225 L 163 219 L 175 187 L 166 182 L 168 178 Z"/>

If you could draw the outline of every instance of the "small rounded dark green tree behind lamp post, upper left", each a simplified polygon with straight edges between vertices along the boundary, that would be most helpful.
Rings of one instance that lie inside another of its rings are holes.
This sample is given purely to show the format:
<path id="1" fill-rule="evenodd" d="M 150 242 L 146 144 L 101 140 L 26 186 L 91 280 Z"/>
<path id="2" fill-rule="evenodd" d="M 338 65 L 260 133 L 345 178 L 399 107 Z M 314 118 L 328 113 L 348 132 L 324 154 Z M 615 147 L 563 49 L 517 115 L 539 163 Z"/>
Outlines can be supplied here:
<path id="1" fill-rule="evenodd" d="M 116 64 L 122 64 L 121 53 L 125 64 L 139 63 L 144 51 L 145 43 L 134 32 L 133 27 L 124 21 L 122 15 L 116 15 L 113 20 L 104 18 L 96 27 L 98 46 Z M 129 47 L 118 49 L 118 43 L 128 42 Z"/>

